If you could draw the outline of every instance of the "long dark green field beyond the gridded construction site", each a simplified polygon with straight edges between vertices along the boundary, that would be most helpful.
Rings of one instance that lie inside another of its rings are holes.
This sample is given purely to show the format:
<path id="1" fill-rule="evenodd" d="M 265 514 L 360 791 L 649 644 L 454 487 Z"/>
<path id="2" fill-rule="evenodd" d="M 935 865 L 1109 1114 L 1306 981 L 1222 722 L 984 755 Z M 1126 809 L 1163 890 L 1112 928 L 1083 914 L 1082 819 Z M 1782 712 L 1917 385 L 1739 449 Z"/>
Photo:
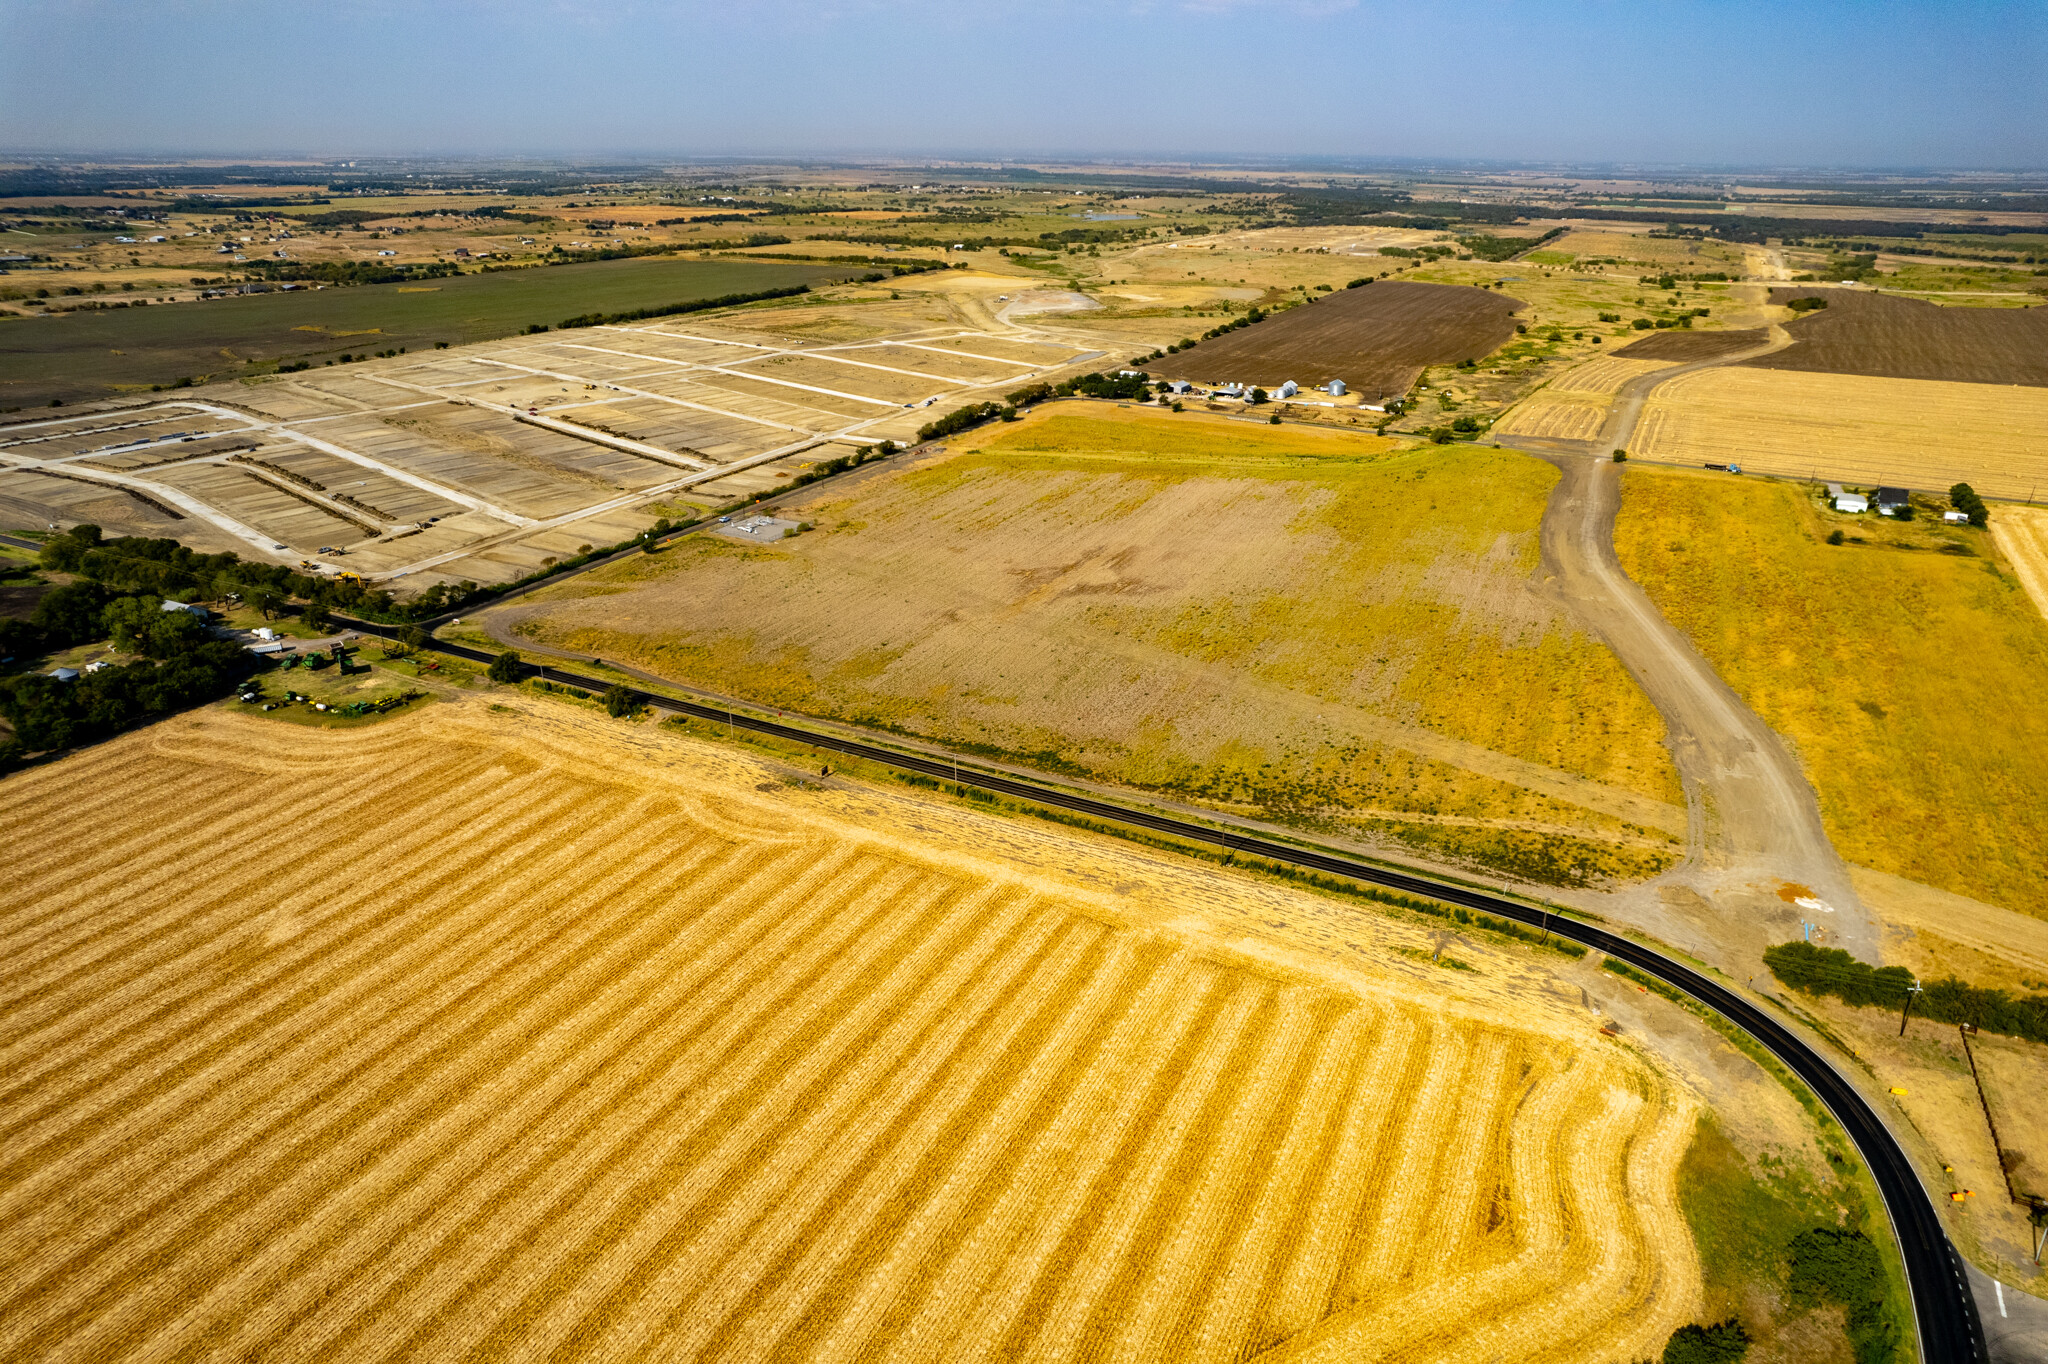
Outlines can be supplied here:
<path id="1" fill-rule="evenodd" d="M 0 408 L 80 401 L 287 360 L 479 342 L 592 311 L 627 311 L 848 279 L 846 266 L 748 260 L 596 260 L 422 285 L 303 289 L 0 319 Z"/>

